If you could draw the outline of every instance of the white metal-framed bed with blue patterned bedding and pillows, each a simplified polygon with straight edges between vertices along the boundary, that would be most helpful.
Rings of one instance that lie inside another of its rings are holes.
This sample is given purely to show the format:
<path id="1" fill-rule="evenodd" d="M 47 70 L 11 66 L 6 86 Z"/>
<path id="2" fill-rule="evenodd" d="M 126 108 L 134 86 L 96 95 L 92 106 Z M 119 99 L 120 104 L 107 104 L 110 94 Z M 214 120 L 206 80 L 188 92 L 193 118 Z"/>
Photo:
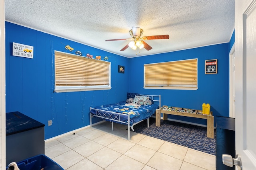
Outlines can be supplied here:
<path id="1" fill-rule="evenodd" d="M 121 123 L 127 125 L 128 140 L 130 140 L 130 128 L 134 131 L 133 126 L 146 119 L 149 127 L 149 118 L 160 106 L 161 95 L 127 93 L 126 101 L 90 107 L 90 127 L 92 127 L 92 117 L 112 122 L 112 131 L 114 130 L 113 122 Z"/>

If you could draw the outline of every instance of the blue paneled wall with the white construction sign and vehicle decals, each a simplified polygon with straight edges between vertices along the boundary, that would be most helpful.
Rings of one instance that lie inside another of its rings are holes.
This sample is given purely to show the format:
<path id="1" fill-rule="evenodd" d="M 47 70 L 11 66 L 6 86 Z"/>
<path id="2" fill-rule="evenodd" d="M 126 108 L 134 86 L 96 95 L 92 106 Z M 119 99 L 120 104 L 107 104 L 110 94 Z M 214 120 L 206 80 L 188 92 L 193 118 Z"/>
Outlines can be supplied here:
<path id="1" fill-rule="evenodd" d="M 34 46 L 34 59 L 12 56 L 13 42 Z M 108 56 L 111 90 L 54 93 L 54 50 L 71 53 L 65 45 Z M 44 123 L 45 139 L 89 125 L 90 106 L 126 100 L 128 70 L 118 73 L 118 65 L 128 68 L 128 58 L 6 22 L 6 112 L 20 111 Z"/>

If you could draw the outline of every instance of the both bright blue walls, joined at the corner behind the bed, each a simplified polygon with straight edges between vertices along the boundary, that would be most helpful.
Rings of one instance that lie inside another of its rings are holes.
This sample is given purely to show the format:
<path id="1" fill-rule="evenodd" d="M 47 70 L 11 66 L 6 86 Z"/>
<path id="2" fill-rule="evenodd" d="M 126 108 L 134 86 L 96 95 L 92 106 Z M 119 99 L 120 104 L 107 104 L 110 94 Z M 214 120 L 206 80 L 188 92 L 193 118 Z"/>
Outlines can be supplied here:
<path id="1" fill-rule="evenodd" d="M 34 46 L 34 59 L 12 56 L 12 43 Z M 70 45 L 83 54 L 108 56 L 111 90 L 54 93 L 54 50 Z M 128 59 L 74 41 L 6 22 L 6 112 L 20 111 L 45 126 L 45 139 L 90 124 L 89 107 L 126 99 L 126 92 L 161 94 L 162 105 L 202 109 L 209 103 L 214 115 L 228 116 L 229 43 Z M 143 64 L 198 58 L 198 90 L 143 88 Z M 205 60 L 218 59 L 218 74 L 205 74 Z M 125 73 L 118 73 L 118 65 Z M 169 115 L 205 124 L 206 121 Z M 48 120 L 53 120 L 48 127 Z M 96 120 L 95 120 L 96 121 Z"/>

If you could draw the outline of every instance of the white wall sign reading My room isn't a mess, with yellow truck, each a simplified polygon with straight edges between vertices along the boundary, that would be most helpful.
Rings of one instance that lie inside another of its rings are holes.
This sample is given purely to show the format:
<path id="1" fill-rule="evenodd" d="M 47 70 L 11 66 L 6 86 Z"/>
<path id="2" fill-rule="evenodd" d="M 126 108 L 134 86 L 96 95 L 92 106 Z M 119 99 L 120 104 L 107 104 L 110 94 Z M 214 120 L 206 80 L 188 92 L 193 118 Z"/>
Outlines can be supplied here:
<path id="1" fill-rule="evenodd" d="M 12 55 L 33 59 L 34 47 L 19 43 L 12 43 Z"/>

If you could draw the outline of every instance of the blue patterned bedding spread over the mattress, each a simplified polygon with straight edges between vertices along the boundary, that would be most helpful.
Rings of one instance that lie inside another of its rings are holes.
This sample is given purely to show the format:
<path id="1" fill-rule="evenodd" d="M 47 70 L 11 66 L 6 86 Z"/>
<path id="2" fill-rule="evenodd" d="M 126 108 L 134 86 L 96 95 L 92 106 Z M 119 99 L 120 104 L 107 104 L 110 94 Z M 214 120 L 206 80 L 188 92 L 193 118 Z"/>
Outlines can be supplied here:
<path id="1" fill-rule="evenodd" d="M 130 113 L 130 126 L 132 126 L 134 123 L 147 119 L 151 117 L 156 109 L 158 109 L 157 104 L 152 105 L 142 105 L 140 107 L 134 107 L 134 106 L 125 106 L 127 104 L 124 102 L 119 102 L 116 104 L 109 104 L 109 105 L 103 105 L 103 106 L 97 106 L 91 109 L 92 115 L 96 114 L 96 110 L 94 109 L 100 109 L 102 110 L 101 116 L 105 117 L 105 120 L 110 121 L 108 118 L 116 119 L 115 116 L 118 114 L 111 115 L 108 113 L 108 111 L 116 112 L 116 113 L 123 113 L 124 115 L 120 115 L 120 121 L 124 121 L 127 123 L 127 114 Z M 105 112 L 106 111 L 106 112 Z M 120 123 L 120 122 L 117 122 Z"/>

